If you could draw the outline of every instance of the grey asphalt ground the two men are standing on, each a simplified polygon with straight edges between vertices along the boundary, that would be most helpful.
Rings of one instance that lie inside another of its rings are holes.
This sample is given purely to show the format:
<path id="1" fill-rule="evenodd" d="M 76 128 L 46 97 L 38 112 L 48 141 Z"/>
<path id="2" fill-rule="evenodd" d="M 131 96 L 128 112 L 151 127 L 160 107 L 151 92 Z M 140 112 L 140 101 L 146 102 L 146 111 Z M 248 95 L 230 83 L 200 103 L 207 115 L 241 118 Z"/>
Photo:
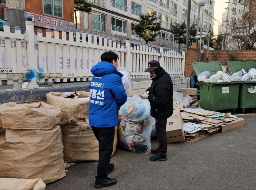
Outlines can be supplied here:
<path id="1" fill-rule="evenodd" d="M 216 133 L 195 142 L 169 143 L 167 161 L 152 154 L 135 154 L 117 147 L 109 177 L 117 184 L 103 189 L 256 189 L 256 114 L 237 114 L 245 126 Z M 156 148 L 157 139 L 151 139 Z M 97 161 L 66 168 L 66 177 L 47 184 L 47 190 L 94 189 Z"/>

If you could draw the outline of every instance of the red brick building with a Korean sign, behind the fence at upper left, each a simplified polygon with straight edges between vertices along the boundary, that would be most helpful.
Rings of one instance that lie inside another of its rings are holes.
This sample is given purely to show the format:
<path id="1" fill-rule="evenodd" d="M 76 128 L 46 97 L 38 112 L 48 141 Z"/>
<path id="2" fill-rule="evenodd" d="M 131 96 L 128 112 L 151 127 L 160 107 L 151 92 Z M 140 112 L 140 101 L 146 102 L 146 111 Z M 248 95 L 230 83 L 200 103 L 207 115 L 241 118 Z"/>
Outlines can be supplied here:
<path id="1" fill-rule="evenodd" d="M 32 16 L 34 31 L 41 29 L 43 36 L 49 29 L 76 29 L 74 23 L 74 1 L 73 0 L 19 0 L 24 3 L 25 18 Z M 6 0 L 0 0 L 0 18 L 7 21 Z M 53 35 L 52 31 L 52 35 Z M 60 32 L 61 37 L 61 32 Z"/>

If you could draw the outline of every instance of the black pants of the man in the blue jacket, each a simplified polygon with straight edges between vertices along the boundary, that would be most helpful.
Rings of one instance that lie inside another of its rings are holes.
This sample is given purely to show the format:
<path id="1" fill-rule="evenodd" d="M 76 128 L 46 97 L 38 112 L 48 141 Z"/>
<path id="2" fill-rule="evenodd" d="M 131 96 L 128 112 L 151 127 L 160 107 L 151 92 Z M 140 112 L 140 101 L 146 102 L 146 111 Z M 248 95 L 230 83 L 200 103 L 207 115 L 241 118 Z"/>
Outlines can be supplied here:
<path id="1" fill-rule="evenodd" d="M 99 141 L 99 161 L 97 167 L 96 181 L 100 182 L 107 177 L 110 158 L 113 151 L 115 127 L 92 127 L 92 131 Z"/>

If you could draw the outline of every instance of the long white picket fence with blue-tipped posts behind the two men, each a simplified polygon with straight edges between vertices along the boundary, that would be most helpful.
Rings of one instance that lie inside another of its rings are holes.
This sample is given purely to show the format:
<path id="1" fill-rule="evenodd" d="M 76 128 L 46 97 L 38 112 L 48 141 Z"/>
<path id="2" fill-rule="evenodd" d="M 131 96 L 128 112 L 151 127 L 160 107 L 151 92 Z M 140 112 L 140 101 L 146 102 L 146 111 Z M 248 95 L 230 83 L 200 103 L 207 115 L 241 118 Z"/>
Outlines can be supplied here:
<path id="1" fill-rule="evenodd" d="M 66 40 L 67 35 L 69 40 Z M 184 76 L 184 51 L 181 55 L 162 47 L 156 50 L 146 44 L 131 46 L 129 37 L 126 39 L 121 44 L 90 31 L 66 32 L 65 29 L 62 39 L 59 39 L 58 29 L 47 29 L 46 37 L 43 37 L 41 30 L 34 34 L 32 21 L 26 21 L 25 34 L 21 34 L 18 26 L 15 33 L 10 33 L 9 23 L 5 22 L 4 32 L 0 32 L 0 84 L 2 81 L 13 84 L 13 81 L 24 78 L 29 79 L 31 84 L 36 84 L 36 81 L 90 81 L 92 66 L 107 50 L 119 55 L 119 67 L 125 67 L 132 78 L 149 78 L 149 73 L 144 70 L 150 60 L 159 60 L 171 76 Z"/>

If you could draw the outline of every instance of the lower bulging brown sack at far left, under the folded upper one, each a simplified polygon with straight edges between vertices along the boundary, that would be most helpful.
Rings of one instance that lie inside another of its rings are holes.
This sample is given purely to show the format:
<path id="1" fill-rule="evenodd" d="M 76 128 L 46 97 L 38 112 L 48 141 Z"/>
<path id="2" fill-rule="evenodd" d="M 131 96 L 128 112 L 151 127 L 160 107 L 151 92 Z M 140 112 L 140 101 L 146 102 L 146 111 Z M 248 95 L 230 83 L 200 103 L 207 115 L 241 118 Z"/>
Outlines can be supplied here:
<path id="1" fill-rule="evenodd" d="M 64 177 L 60 126 L 55 126 L 52 130 L 2 130 L 0 168 L 0 177 L 24 179 L 40 177 L 45 184 Z"/>

